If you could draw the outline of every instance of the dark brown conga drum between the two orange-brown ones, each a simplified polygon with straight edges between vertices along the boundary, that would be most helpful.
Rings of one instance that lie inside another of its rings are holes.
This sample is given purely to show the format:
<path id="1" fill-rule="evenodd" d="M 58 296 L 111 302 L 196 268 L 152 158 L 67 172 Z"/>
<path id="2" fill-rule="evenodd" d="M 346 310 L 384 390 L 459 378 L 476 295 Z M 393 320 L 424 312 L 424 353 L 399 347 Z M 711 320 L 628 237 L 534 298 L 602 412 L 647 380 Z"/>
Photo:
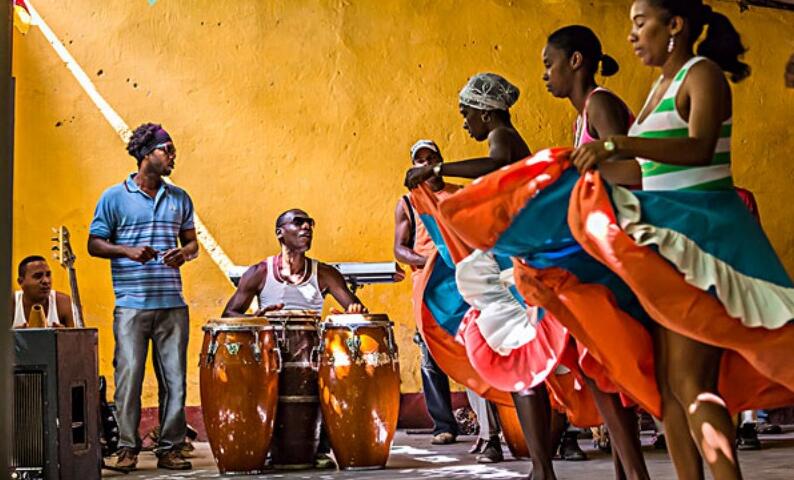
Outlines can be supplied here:
<path id="1" fill-rule="evenodd" d="M 311 354 L 320 344 L 320 312 L 279 310 L 265 317 L 281 326 L 279 345 L 283 359 L 279 376 L 276 426 L 270 456 L 274 468 L 314 468 L 320 442 L 320 399 L 317 370 Z"/>

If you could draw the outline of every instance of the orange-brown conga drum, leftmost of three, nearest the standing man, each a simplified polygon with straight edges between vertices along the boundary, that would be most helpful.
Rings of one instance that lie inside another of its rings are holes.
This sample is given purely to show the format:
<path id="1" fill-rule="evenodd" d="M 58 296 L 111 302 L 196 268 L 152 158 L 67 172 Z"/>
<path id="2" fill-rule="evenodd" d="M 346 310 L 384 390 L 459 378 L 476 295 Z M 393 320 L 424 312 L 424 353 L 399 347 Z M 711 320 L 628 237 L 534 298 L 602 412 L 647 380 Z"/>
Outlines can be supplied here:
<path id="1" fill-rule="evenodd" d="M 273 438 L 281 327 L 264 318 L 222 318 L 202 329 L 201 409 L 218 470 L 261 472 Z"/>

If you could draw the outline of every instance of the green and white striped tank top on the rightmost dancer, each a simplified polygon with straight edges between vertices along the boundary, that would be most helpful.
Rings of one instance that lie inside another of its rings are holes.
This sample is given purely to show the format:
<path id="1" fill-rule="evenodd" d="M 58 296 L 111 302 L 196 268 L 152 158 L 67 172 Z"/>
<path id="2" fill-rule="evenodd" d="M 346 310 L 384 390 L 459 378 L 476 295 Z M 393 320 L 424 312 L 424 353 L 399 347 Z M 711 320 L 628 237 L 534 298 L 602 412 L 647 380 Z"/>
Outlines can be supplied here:
<path id="1" fill-rule="evenodd" d="M 686 74 L 692 65 L 705 60 L 694 57 L 678 71 L 659 105 L 645 119 L 639 118 L 629 129 L 630 137 L 644 138 L 676 138 L 689 136 L 689 124 L 681 118 L 675 108 L 675 97 L 681 88 Z M 662 78 L 654 84 L 645 106 L 653 98 Z M 674 154 L 671 152 L 671 154 Z M 722 190 L 733 188 L 731 177 L 731 119 L 722 122 L 720 137 L 710 165 L 685 166 L 659 163 L 645 158 L 638 158 L 642 168 L 643 190 Z"/>

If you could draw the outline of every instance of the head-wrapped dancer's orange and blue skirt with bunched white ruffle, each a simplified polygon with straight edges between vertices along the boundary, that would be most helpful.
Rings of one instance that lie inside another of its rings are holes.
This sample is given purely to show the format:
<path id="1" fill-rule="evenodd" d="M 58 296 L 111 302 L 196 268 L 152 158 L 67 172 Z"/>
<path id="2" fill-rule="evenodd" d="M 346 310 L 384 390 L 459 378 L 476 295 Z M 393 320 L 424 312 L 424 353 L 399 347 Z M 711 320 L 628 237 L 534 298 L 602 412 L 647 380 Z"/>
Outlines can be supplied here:
<path id="1" fill-rule="evenodd" d="M 420 331 L 439 366 L 477 393 L 482 391 L 481 382 L 505 392 L 522 391 L 546 381 L 554 406 L 566 411 L 573 423 L 580 426 L 600 423 L 592 394 L 578 369 L 565 367 L 566 362 L 573 367 L 576 364 L 575 353 L 565 354 L 570 346 L 565 329 L 553 319 L 544 322 L 540 329 L 532 325 L 527 312 L 536 316 L 538 309 L 528 309 L 515 287 L 501 285 L 498 280 L 493 283 L 493 278 L 481 275 L 477 265 L 481 266 L 482 262 L 476 259 L 483 258 L 478 256 L 482 252 L 473 252 L 449 229 L 439 215 L 432 193 L 420 187 L 412 198 L 438 247 L 433 268 L 420 287 L 424 289 L 424 310 L 419 318 L 422 319 Z M 492 257 L 485 255 L 485 258 Z M 497 278 L 501 275 L 512 283 L 509 258 L 492 259 L 486 265 L 496 272 Z M 453 267 L 457 270 L 457 281 Z M 469 281 L 461 282 L 461 278 Z M 483 295 L 483 291 L 490 291 L 491 295 Z M 507 325 L 500 324 L 501 321 Z M 528 354 L 533 349 L 543 350 L 544 354 Z M 480 394 L 494 400 L 492 392 Z"/>

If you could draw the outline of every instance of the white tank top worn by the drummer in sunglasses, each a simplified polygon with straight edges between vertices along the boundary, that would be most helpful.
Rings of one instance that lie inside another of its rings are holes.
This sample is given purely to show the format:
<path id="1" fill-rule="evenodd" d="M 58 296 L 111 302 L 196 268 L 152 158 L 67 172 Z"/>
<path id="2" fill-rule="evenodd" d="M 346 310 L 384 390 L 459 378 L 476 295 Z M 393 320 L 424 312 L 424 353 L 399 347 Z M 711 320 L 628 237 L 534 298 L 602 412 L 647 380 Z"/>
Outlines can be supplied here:
<path id="1" fill-rule="evenodd" d="M 267 278 L 259 292 L 259 307 L 283 303 L 285 310 L 322 310 L 323 294 L 317 280 L 317 261 L 307 258 L 312 274 L 303 283 L 292 284 L 276 280 L 274 258 L 267 258 Z"/>

